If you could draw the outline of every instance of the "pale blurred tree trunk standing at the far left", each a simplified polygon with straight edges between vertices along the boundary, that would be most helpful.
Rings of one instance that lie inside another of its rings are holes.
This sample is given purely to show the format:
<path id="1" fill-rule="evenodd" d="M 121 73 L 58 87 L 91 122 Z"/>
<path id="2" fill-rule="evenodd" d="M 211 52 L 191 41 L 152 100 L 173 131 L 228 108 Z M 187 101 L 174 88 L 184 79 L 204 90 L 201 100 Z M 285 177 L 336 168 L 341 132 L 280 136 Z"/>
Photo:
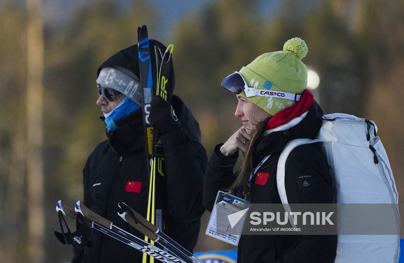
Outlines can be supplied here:
<path id="1" fill-rule="evenodd" d="M 32 263 L 44 261 L 44 40 L 41 2 L 27 0 L 27 211 L 28 255 Z"/>

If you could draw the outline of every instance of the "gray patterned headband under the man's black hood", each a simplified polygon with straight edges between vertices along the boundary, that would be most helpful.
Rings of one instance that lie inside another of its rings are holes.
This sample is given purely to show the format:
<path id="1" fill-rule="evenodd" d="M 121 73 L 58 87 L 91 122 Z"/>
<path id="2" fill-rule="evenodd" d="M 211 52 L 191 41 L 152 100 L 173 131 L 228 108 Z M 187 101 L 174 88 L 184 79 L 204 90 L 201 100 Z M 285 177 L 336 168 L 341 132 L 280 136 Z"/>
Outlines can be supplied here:
<path id="1" fill-rule="evenodd" d="M 104 67 L 98 75 L 97 84 L 118 90 L 139 105 L 142 103 L 139 78 L 124 67 Z"/>

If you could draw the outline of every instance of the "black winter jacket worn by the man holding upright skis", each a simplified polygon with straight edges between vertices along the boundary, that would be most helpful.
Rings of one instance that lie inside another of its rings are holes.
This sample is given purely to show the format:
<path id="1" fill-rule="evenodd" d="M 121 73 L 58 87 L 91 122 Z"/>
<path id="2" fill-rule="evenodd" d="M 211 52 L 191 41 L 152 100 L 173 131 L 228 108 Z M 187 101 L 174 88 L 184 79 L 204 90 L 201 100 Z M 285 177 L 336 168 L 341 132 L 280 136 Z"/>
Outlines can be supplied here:
<path id="1" fill-rule="evenodd" d="M 161 136 L 168 191 L 167 234 L 192 251 L 198 239 L 200 217 L 204 213 L 202 185 L 206 151 L 201 144 L 198 122 L 191 111 L 177 96 L 173 96 L 171 104 L 182 129 Z M 117 211 L 99 200 L 96 193 L 114 204 L 125 202 L 146 216 L 148 188 L 141 111 L 117 120 L 116 124 L 118 128 L 107 133 L 108 140 L 95 148 L 84 167 L 84 205 L 114 225 L 127 229 Z M 140 189 L 125 191 L 128 181 Z M 139 232 L 133 234 L 144 238 Z M 72 262 L 141 262 L 141 252 L 97 230 L 92 229 L 91 241 L 93 247 L 85 248 L 84 258 L 75 253 Z"/>

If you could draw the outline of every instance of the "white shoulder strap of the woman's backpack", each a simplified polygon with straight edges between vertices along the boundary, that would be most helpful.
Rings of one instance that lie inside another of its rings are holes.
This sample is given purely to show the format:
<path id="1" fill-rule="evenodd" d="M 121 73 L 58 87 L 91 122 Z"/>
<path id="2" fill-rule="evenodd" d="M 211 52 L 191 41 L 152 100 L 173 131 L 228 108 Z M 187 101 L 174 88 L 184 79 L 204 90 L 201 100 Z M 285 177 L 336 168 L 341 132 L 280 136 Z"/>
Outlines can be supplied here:
<path id="1" fill-rule="evenodd" d="M 286 166 L 286 160 L 289 157 L 290 152 L 292 152 L 293 149 L 295 149 L 297 146 L 303 145 L 303 144 L 309 144 L 309 143 L 318 143 L 322 142 L 320 139 L 295 139 L 289 141 L 286 146 L 283 148 L 282 153 L 280 154 L 279 160 L 278 160 L 278 169 L 276 171 L 276 182 L 278 185 L 278 193 L 280 200 L 282 201 L 283 207 L 285 208 L 285 212 L 288 212 L 289 214 L 289 221 L 292 224 L 292 227 L 296 227 L 293 224 L 293 217 L 290 215 L 289 212 L 290 206 L 288 203 L 288 197 L 286 196 L 286 189 L 285 189 L 285 166 Z"/>

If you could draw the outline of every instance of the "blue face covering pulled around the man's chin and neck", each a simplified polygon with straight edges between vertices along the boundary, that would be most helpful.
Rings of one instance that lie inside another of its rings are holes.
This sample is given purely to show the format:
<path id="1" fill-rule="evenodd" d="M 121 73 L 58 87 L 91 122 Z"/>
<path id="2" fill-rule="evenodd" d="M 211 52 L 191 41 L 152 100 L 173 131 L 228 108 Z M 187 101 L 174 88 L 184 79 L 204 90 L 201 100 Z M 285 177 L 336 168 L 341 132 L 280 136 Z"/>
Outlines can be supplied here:
<path id="1" fill-rule="evenodd" d="M 132 112 L 136 112 L 140 109 L 140 105 L 135 101 L 132 101 L 128 97 L 125 97 L 121 103 L 118 104 L 111 112 L 104 113 L 105 126 L 107 126 L 107 132 L 118 128 L 115 124 L 115 120 L 118 120 Z"/>

